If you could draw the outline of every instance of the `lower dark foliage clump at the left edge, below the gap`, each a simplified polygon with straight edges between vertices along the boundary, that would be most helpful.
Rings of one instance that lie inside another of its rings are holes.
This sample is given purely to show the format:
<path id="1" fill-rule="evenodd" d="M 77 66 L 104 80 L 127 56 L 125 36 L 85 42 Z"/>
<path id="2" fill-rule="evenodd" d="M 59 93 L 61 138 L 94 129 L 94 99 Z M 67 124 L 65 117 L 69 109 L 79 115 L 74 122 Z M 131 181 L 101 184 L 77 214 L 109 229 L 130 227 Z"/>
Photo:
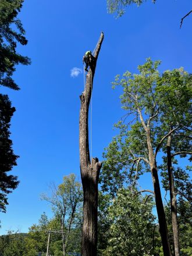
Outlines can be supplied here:
<path id="1" fill-rule="evenodd" d="M 16 189 L 18 185 L 17 176 L 8 175 L 16 164 L 17 155 L 13 154 L 12 140 L 10 140 L 10 119 L 15 112 L 11 106 L 8 95 L 0 94 L 0 211 L 6 212 L 8 205 L 7 194 Z"/>

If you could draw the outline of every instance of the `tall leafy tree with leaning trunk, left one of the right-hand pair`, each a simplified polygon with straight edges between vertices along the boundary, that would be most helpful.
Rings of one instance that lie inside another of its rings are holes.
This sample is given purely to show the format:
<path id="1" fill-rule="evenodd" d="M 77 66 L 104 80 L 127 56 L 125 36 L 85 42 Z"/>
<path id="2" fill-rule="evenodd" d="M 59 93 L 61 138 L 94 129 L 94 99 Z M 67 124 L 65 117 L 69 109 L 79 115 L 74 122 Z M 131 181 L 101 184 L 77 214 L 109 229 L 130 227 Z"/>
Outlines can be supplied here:
<path id="1" fill-rule="evenodd" d="M 129 118 L 129 122 L 125 123 L 121 120 L 116 125 L 120 133 L 113 138 L 104 154 L 106 161 L 102 169 L 102 188 L 115 192 L 125 182 L 134 187 L 144 170 L 151 170 L 163 253 L 171 255 L 158 178 L 157 154 L 166 145 L 170 135 L 182 134 L 187 129 L 183 123 L 184 118 L 179 119 L 181 111 L 177 114 L 173 109 L 178 109 L 184 101 L 186 103 L 189 101 L 189 97 L 184 95 L 189 92 L 191 76 L 183 72 L 183 69 L 168 70 L 160 76 L 157 70 L 159 63 L 147 59 L 144 65 L 138 66 L 140 74 L 132 75 L 126 72 L 122 79 L 119 75 L 116 76 L 113 86 L 123 87 L 120 98 L 122 108 L 127 111 L 124 121 Z M 171 81 L 169 81 L 170 77 L 172 77 Z M 162 79 L 164 79 L 163 84 Z M 178 87 L 183 92 L 183 98 L 179 101 L 178 97 L 170 105 L 165 99 L 164 91 L 174 93 L 174 79 L 175 81 L 179 79 Z M 171 130 L 170 126 L 172 126 Z"/>

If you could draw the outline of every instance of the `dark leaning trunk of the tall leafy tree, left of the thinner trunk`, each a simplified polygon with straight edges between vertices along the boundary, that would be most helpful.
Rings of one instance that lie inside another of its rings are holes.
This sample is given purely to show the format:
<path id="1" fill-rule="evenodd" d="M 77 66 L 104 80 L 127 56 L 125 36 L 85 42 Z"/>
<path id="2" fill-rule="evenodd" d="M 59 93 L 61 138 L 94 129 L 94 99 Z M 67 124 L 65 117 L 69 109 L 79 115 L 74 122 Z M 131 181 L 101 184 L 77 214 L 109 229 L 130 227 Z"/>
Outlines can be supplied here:
<path id="1" fill-rule="evenodd" d="M 151 136 L 150 136 L 150 128 L 149 127 L 147 130 L 147 145 L 148 145 L 149 160 L 150 160 L 150 166 L 151 166 L 152 182 L 154 184 L 155 204 L 157 207 L 157 214 L 158 214 L 158 221 L 159 221 L 159 232 L 161 234 L 163 254 L 164 254 L 164 256 L 172 256 L 172 252 L 170 250 L 170 243 L 169 243 L 168 227 L 166 225 L 165 211 L 164 211 L 164 207 L 163 207 L 163 202 L 162 202 L 162 197 L 161 197 L 161 189 L 160 189 L 160 185 L 159 185 L 157 163 L 156 163 L 154 151 L 153 151 L 152 145 L 151 145 Z"/>

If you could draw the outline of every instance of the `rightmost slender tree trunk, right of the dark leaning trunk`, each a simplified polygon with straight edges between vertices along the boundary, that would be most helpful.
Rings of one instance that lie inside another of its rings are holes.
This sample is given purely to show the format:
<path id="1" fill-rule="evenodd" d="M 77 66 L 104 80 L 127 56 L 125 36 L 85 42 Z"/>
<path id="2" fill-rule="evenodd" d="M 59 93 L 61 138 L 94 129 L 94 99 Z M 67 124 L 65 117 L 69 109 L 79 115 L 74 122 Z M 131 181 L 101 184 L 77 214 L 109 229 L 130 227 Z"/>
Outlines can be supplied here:
<path id="1" fill-rule="evenodd" d="M 177 222 L 177 201 L 175 193 L 175 184 L 173 177 L 173 167 L 172 167 L 172 156 L 171 156 L 171 136 L 168 137 L 167 143 L 167 164 L 168 164 L 168 175 L 169 175 L 169 191 L 170 191 L 170 211 L 172 219 L 172 230 L 173 230 L 173 244 L 175 256 L 180 255 L 179 250 L 179 230 Z"/>

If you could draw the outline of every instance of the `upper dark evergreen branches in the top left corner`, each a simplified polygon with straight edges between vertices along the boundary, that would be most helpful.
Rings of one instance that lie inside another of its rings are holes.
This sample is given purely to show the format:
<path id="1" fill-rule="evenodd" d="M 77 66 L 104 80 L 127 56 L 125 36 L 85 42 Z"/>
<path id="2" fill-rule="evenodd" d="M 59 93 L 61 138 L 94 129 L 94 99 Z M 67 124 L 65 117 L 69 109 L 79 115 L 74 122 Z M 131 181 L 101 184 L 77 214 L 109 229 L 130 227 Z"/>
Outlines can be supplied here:
<path id="1" fill-rule="evenodd" d="M 15 66 L 19 63 L 30 64 L 29 58 L 16 52 L 17 42 L 22 45 L 27 44 L 22 23 L 17 19 L 22 3 L 23 0 L 1 0 L 0 2 L 0 86 L 14 90 L 19 90 L 12 79 Z"/>

